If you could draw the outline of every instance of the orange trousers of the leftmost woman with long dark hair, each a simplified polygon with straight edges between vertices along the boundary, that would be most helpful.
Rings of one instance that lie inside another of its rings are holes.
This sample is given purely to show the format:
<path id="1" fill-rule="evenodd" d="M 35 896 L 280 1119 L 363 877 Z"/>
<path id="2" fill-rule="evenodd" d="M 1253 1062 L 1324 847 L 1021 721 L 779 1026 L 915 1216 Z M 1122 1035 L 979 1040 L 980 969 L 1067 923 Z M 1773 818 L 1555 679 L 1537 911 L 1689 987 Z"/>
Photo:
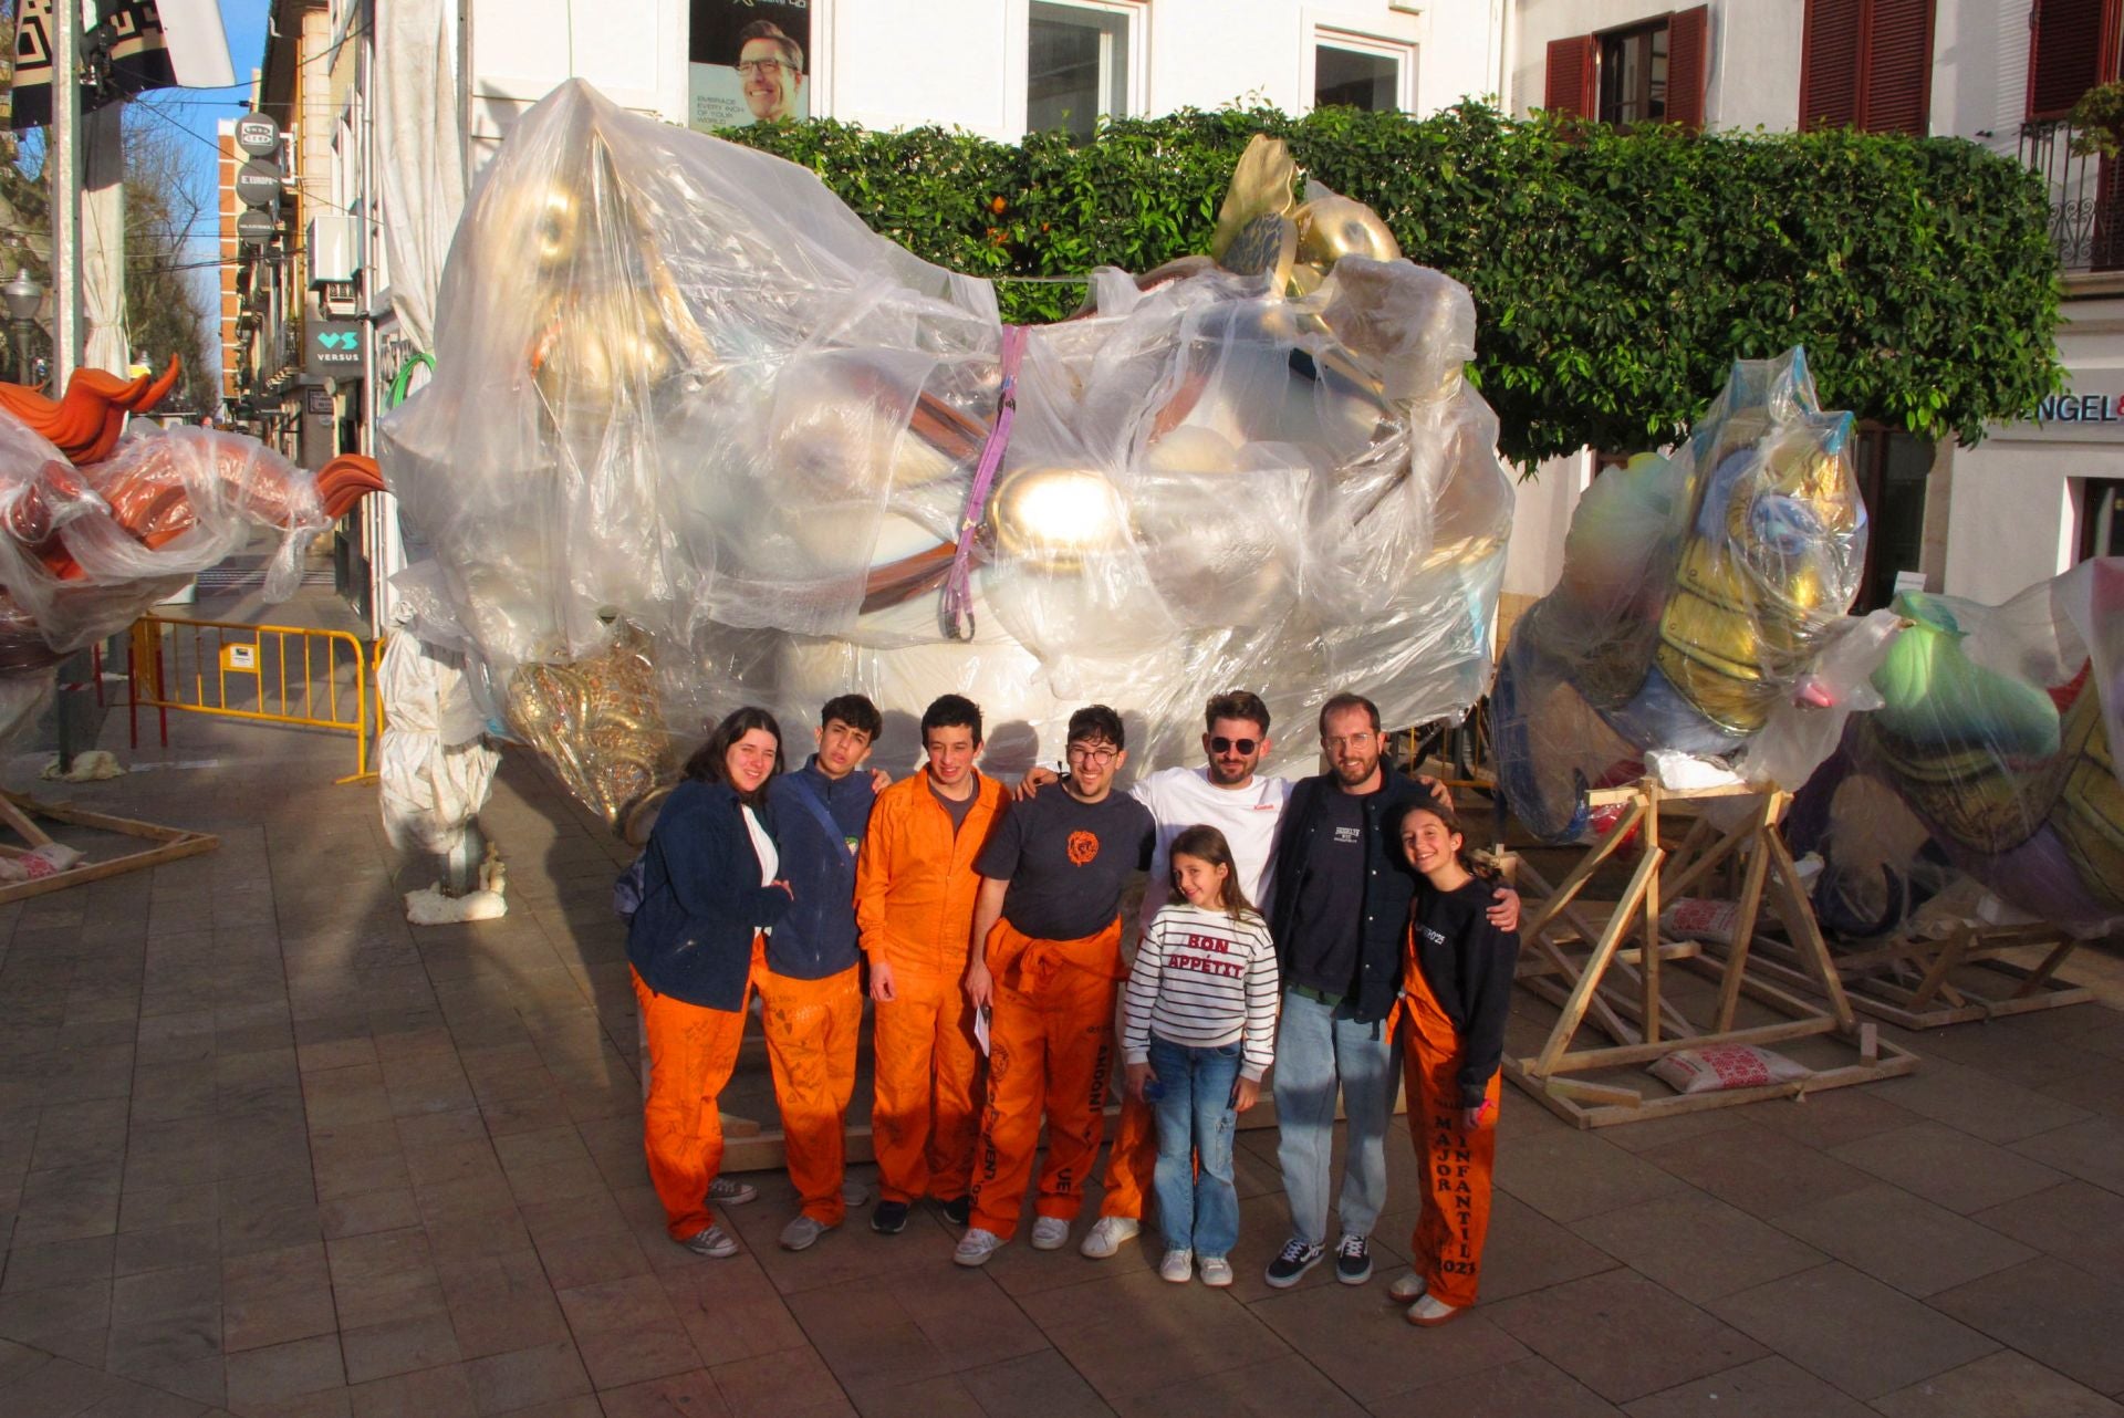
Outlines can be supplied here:
<path id="1" fill-rule="evenodd" d="M 754 945 L 754 959 L 758 959 Z M 650 1042 L 650 1095 L 641 1104 L 641 1151 L 650 1182 L 665 1206 L 671 1240 L 699 1235 L 716 1225 L 707 1187 L 722 1170 L 722 1112 L 716 1095 L 737 1068 L 746 1010 L 703 1008 L 661 996 L 629 970 Z M 746 991 L 746 1004 L 752 991 Z"/>

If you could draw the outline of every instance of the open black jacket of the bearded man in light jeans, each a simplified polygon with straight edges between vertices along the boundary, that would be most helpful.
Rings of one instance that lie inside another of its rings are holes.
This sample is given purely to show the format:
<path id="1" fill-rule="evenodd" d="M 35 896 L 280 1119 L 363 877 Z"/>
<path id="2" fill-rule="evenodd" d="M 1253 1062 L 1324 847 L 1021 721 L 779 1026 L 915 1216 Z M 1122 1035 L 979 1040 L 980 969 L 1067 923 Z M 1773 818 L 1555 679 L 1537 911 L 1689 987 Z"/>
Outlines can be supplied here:
<path id="1" fill-rule="evenodd" d="M 1378 792 L 1364 798 L 1364 909 L 1357 953 L 1357 996 L 1351 1010 L 1361 1021 L 1385 1019 L 1402 991 L 1402 947 L 1408 940 L 1408 906 L 1417 896 L 1417 870 L 1402 853 L 1402 811 L 1429 798 L 1429 790 L 1385 762 Z M 1302 779 L 1291 788 L 1277 836 L 1274 883 L 1268 928 L 1277 936 L 1277 964 L 1289 974 L 1298 936 L 1298 883 L 1321 828 L 1321 805 L 1342 785 L 1332 773 Z"/>

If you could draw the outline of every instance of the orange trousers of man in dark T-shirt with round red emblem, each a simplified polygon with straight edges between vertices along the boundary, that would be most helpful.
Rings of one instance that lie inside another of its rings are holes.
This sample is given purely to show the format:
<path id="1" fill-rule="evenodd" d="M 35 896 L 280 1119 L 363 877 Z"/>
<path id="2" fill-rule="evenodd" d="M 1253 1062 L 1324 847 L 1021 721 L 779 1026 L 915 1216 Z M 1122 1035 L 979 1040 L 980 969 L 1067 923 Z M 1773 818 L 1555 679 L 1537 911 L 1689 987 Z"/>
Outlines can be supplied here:
<path id="1" fill-rule="evenodd" d="M 1073 1221 L 1107 1129 L 1121 928 L 1083 940 L 1028 940 L 1007 921 L 990 936 L 996 1002 L 988 1021 L 988 1108 L 973 1176 L 973 1225 L 1009 1240 L 1047 1119 L 1039 1216 Z"/>

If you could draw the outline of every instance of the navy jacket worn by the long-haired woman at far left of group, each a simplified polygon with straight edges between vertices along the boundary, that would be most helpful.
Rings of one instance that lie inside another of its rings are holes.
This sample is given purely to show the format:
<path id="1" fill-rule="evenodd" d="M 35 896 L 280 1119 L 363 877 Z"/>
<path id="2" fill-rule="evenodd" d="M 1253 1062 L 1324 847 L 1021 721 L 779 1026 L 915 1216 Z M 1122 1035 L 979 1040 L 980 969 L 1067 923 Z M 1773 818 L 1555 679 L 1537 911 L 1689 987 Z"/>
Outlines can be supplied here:
<path id="1" fill-rule="evenodd" d="M 771 807 L 760 809 L 760 826 L 773 836 Z M 627 959 L 661 996 L 735 1013 L 746 1004 L 752 936 L 788 911 L 788 892 L 760 885 L 737 790 L 686 779 L 650 832 Z"/>

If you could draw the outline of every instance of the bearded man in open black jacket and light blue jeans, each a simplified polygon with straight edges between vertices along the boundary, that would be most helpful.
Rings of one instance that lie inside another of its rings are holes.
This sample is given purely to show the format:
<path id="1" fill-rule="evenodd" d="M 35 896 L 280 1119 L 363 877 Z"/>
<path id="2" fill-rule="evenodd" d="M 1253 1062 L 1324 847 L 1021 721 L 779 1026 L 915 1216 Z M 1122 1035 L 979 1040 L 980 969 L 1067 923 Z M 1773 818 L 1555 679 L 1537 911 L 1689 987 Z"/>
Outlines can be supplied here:
<path id="1" fill-rule="evenodd" d="M 1372 1225 L 1387 1199 L 1387 1123 L 1393 1117 L 1391 1017 L 1402 991 L 1402 949 L 1417 875 L 1395 836 L 1402 811 L 1427 779 L 1385 760 L 1378 705 L 1336 694 L 1321 705 L 1330 771 L 1291 785 L 1277 838 L 1266 906 L 1283 966 L 1277 1023 L 1277 1161 L 1291 1208 L 1291 1240 L 1268 1263 L 1274 1289 L 1298 1284 L 1328 1252 L 1328 1182 L 1336 1100 L 1349 1155 L 1336 1204 L 1336 1280 L 1372 1278 Z M 1519 896 L 1491 906 L 1502 930 L 1519 926 Z"/>

